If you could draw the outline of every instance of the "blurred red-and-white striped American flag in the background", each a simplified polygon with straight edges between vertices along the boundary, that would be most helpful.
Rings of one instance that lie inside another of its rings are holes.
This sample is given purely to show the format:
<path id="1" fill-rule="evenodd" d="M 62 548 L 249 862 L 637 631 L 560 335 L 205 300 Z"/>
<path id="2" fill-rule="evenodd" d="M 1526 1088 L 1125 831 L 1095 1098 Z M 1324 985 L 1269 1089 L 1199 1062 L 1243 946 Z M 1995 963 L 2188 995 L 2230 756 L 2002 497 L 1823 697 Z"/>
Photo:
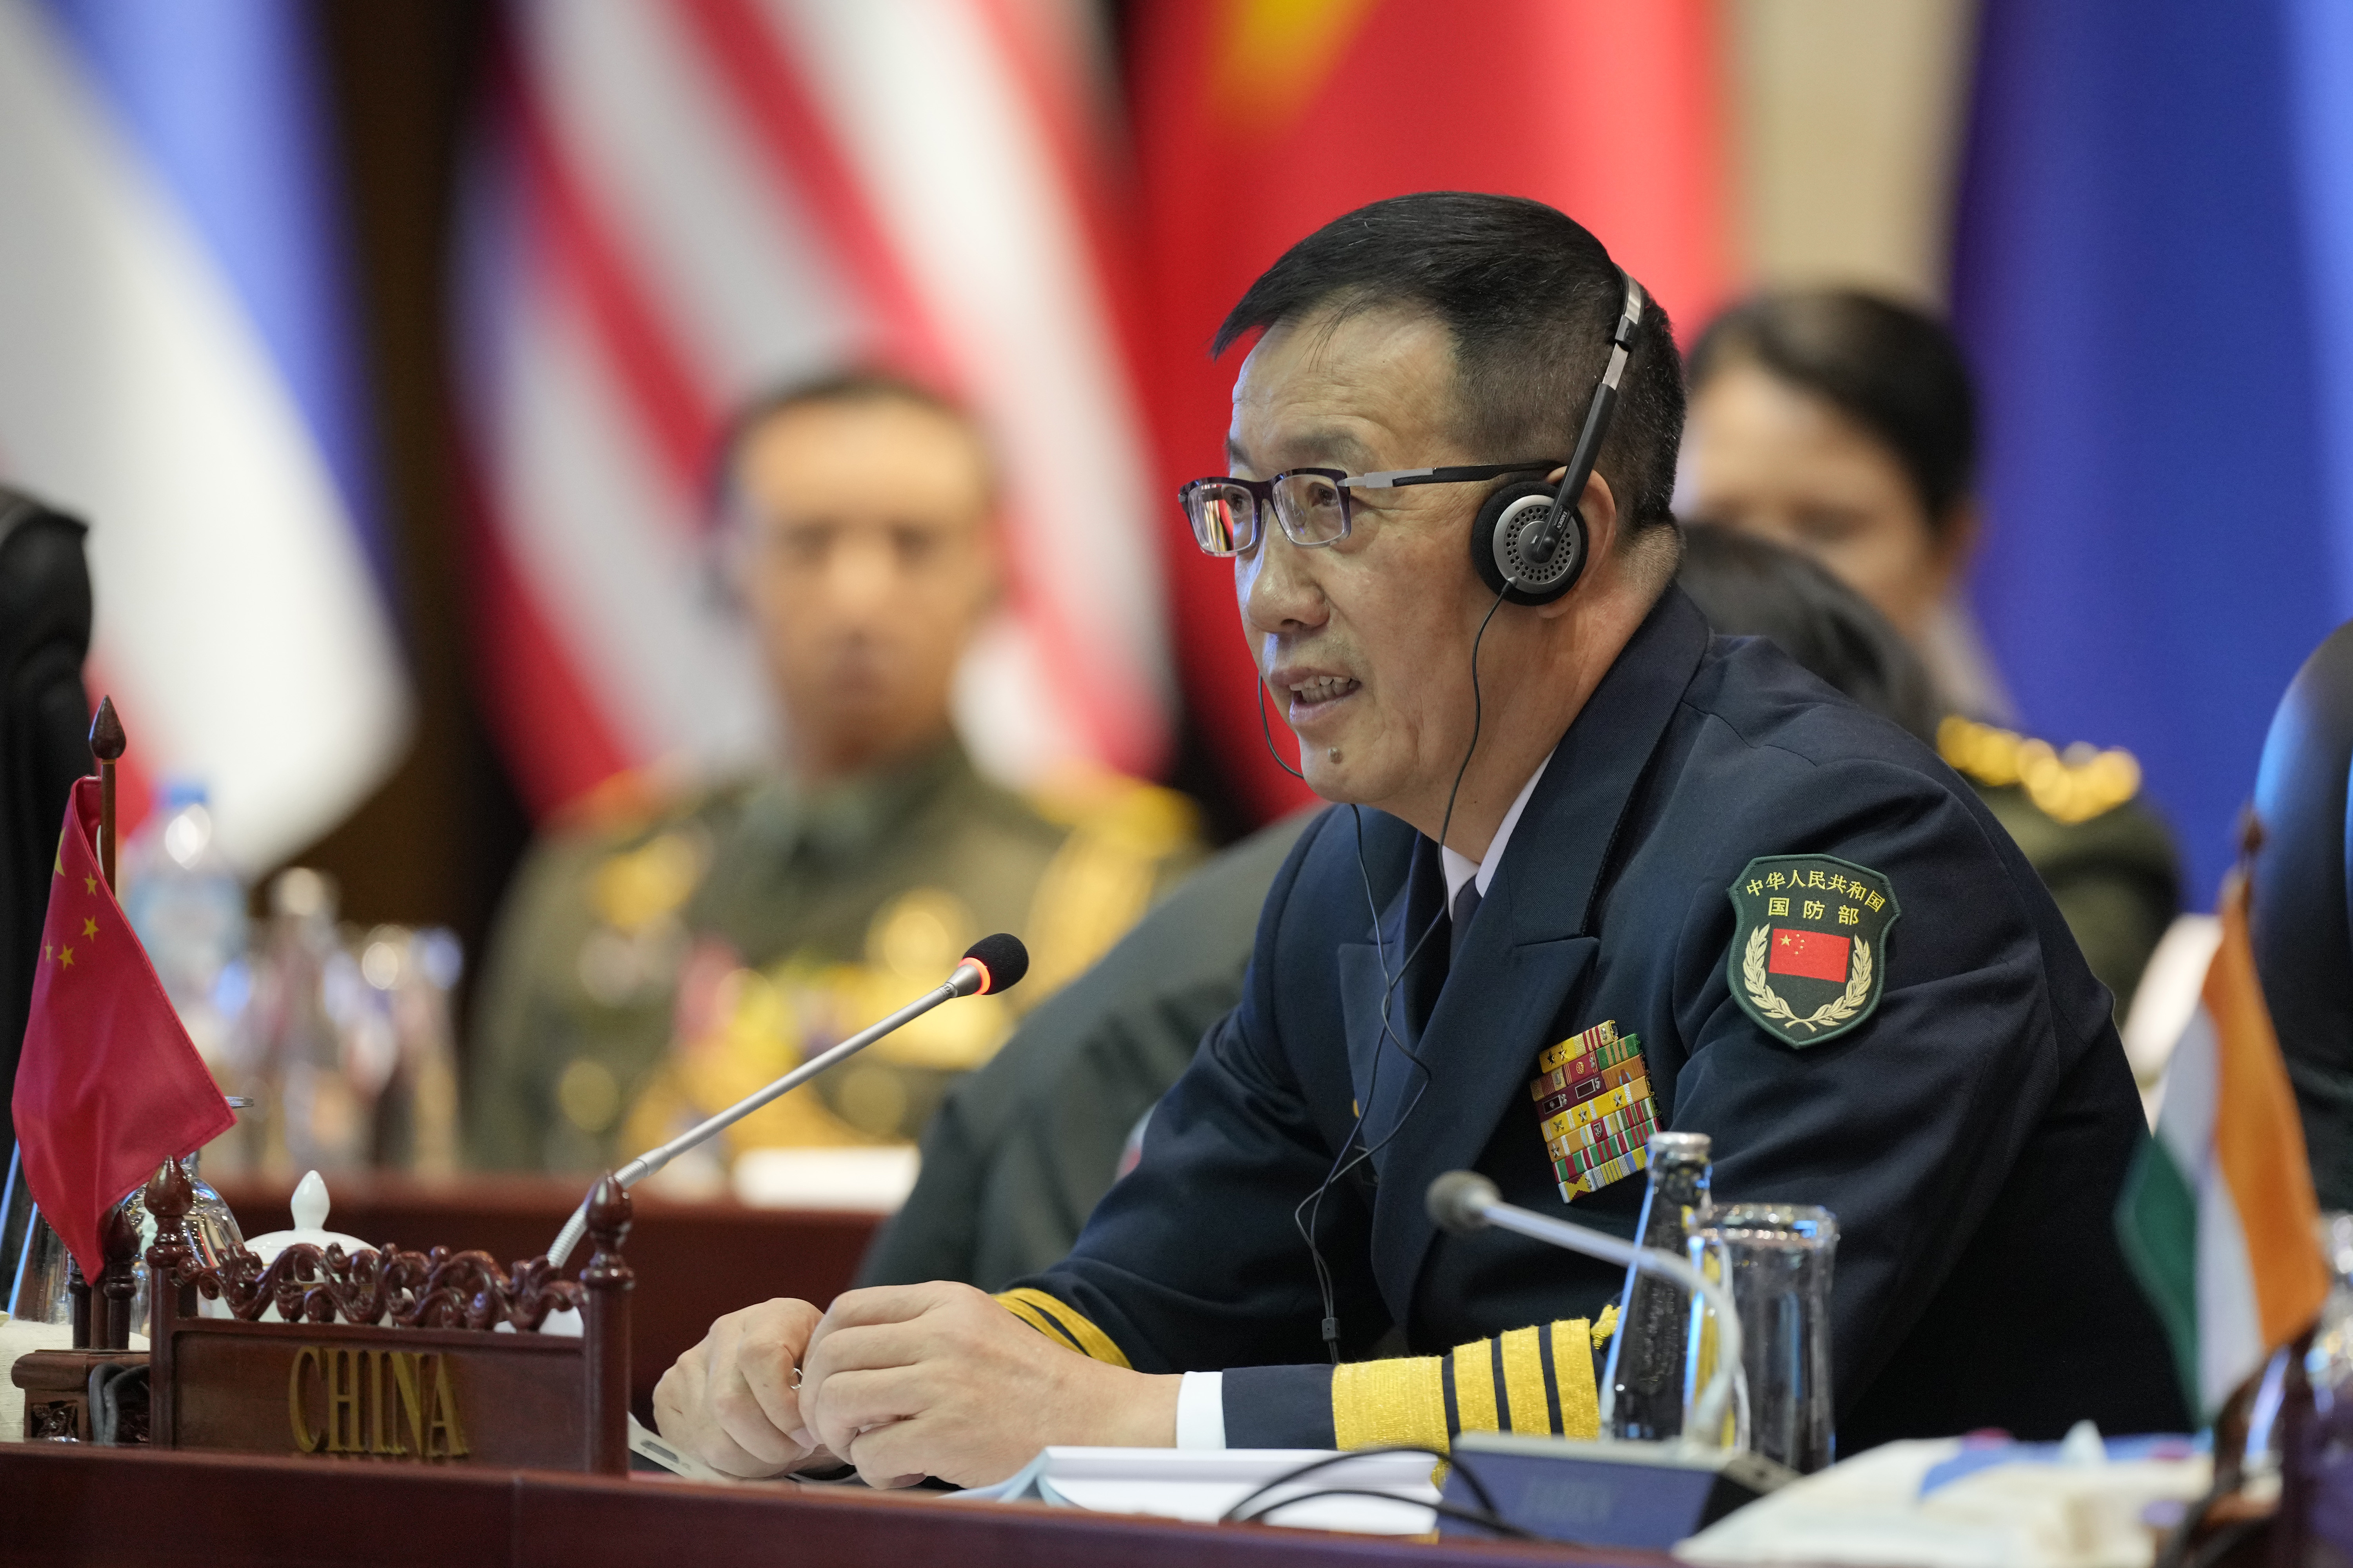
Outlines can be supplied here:
<path id="1" fill-rule="evenodd" d="M 485 679 L 534 806 L 772 743 L 713 444 L 882 364 L 967 400 L 1012 590 L 960 682 L 984 766 L 1151 771 L 1172 677 L 1080 0 L 518 0 L 466 195 Z"/>

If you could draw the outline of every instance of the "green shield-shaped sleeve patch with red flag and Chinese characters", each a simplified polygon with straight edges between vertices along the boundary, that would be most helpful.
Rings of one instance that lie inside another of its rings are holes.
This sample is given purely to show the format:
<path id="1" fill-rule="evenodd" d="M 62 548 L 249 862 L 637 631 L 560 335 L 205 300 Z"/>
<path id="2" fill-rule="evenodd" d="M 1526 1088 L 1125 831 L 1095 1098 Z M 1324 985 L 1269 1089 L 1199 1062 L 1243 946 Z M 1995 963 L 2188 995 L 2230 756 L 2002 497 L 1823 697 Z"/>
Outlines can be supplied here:
<path id="1" fill-rule="evenodd" d="M 1732 999 L 1760 1030 L 1819 1046 L 1878 1011 L 1904 912 L 1887 877 L 1835 856 L 1758 856 L 1725 891 Z"/>

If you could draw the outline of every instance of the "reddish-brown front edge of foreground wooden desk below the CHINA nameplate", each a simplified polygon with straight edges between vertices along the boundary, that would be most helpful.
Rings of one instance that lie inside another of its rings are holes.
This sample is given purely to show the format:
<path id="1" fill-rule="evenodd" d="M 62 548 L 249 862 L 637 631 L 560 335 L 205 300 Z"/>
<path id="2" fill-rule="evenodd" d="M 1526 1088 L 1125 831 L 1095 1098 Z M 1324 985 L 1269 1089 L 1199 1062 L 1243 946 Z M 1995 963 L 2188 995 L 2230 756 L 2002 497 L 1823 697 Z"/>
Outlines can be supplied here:
<path id="1" fill-rule="evenodd" d="M 1673 1568 L 1649 1552 L 1426 1544 L 852 1488 L 395 1469 L 49 1443 L 0 1443 L 0 1568 L 179 1568 L 191 1561 L 240 1568 Z"/>

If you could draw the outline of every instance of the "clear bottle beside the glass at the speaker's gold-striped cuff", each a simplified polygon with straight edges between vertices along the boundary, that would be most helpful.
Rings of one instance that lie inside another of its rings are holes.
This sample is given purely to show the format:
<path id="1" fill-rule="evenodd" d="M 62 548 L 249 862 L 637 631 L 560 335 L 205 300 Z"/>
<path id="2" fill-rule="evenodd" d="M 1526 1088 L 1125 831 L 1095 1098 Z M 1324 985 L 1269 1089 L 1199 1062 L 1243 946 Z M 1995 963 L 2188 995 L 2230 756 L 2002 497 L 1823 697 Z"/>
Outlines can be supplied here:
<path id="1" fill-rule="evenodd" d="M 1685 1255 L 1685 1241 L 1708 1215 L 1708 1135 L 1649 1135 L 1649 1194 L 1642 1199 L 1642 1246 Z M 1685 1335 L 1689 1293 L 1626 1269 L 1619 1328 L 1602 1371 L 1602 1432 L 1614 1439 L 1659 1441 L 1682 1432 Z"/>

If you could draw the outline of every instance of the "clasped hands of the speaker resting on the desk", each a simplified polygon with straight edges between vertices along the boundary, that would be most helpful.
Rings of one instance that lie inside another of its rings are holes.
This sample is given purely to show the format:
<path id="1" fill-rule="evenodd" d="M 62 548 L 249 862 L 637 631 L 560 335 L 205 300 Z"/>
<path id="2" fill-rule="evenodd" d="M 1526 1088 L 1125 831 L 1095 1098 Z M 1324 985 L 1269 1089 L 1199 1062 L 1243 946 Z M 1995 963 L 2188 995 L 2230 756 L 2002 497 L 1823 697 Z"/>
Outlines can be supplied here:
<path id="1" fill-rule="evenodd" d="M 824 1314 L 729 1312 L 661 1375 L 654 1422 L 729 1476 L 847 1462 L 868 1486 L 988 1486 L 1047 1443 L 1174 1443 L 1179 1382 L 1092 1361 L 972 1286 L 880 1286 Z"/>

